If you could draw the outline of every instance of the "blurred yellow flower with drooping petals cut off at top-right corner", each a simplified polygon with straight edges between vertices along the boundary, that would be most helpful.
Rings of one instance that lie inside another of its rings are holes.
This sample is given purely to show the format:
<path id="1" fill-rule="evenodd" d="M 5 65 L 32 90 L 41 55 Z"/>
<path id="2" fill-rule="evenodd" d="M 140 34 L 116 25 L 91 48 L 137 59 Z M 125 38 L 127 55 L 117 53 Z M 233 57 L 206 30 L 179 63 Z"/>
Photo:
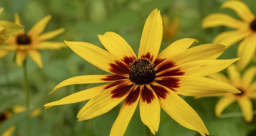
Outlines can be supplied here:
<path id="1" fill-rule="evenodd" d="M 238 0 L 226 1 L 221 7 L 235 11 L 242 20 L 227 14 L 216 13 L 205 17 L 202 21 L 202 27 L 226 26 L 235 29 L 217 35 L 213 43 L 223 44 L 228 48 L 242 40 L 237 50 L 238 57 L 241 57 L 241 60 L 238 61 L 238 68 L 241 70 L 250 63 L 256 52 L 256 18 L 250 9 Z"/>

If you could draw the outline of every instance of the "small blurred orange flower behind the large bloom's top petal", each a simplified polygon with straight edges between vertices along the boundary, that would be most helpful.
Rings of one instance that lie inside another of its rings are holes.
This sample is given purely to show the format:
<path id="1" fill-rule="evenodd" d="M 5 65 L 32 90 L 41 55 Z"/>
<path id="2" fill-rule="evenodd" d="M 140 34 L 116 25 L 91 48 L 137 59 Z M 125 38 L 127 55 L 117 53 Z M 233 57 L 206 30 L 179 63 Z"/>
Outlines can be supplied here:
<path id="1" fill-rule="evenodd" d="M 180 18 L 175 17 L 170 23 L 170 18 L 168 15 L 163 15 L 163 39 L 172 39 L 179 28 Z"/>

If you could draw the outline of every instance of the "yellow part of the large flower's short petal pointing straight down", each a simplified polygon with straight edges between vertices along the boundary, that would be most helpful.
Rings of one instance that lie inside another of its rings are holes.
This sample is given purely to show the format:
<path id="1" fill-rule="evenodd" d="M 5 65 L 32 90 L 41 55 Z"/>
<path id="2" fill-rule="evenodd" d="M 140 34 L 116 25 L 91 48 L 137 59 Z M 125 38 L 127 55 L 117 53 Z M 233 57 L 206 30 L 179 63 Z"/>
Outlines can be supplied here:
<path id="1" fill-rule="evenodd" d="M 151 100 L 151 103 L 147 103 L 147 101 L 143 101 L 142 97 L 140 98 L 140 118 L 155 135 L 160 123 L 160 104 L 155 91 L 150 87 L 150 85 L 145 85 L 144 88 L 145 87 L 153 93 L 154 99 Z M 145 90 L 142 90 L 141 95 L 144 95 L 143 91 Z"/>

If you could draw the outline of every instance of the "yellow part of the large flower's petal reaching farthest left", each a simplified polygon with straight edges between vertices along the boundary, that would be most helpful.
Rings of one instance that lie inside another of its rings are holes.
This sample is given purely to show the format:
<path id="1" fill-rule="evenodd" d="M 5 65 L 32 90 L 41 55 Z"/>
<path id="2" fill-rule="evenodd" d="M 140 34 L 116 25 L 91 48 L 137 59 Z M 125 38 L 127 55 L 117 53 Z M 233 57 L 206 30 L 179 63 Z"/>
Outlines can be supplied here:
<path id="1" fill-rule="evenodd" d="M 82 102 L 85 100 L 89 100 L 91 98 L 94 98 L 96 95 L 98 95 L 101 91 L 104 90 L 104 88 L 107 85 L 101 85 L 93 88 L 89 88 L 86 90 L 82 90 L 79 92 L 76 92 L 72 95 L 69 95 L 67 97 L 64 97 L 58 101 L 50 102 L 44 105 L 44 107 L 47 106 L 55 106 L 55 105 L 63 105 L 63 104 L 71 104 L 76 102 Z"/>

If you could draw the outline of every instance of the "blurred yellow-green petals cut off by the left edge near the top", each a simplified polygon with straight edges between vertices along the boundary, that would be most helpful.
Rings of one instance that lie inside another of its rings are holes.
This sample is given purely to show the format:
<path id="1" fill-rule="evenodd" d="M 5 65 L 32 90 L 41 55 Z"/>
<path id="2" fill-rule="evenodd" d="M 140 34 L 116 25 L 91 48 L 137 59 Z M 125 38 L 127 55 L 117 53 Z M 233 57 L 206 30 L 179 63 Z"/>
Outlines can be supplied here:
<path id="1" fill-rule="evenodd" d="M 3 12 L 3 7 L 0 8 L 0 14 Z M 23 26 L 7 20 L 0 20 L 0 45 L 4 43 L 8 37 L 22 31 Z M 1 55 L 0 55 L 1 56 Z"/>

